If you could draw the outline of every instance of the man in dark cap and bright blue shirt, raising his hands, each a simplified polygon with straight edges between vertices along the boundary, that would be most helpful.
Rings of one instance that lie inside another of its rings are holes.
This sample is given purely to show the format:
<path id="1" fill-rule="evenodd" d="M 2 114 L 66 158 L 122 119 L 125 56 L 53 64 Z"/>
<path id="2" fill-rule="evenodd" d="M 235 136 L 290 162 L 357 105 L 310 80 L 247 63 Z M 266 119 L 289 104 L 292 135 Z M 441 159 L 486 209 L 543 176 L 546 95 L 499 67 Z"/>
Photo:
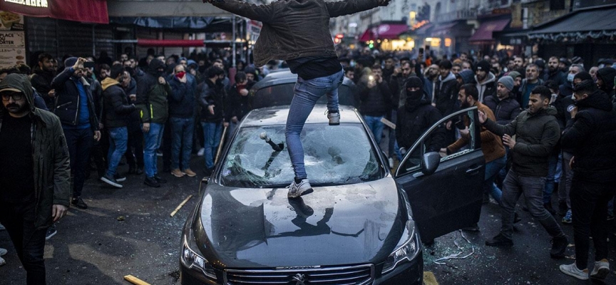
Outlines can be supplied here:
<path id="1" fill-rule="evenodd" d="M 66 58 L 64 71 L 51 81 L 56 90 L 56 105 L 53 113 L 60 118 L 68 152 L 71 154 L 73 175 L 73 199 L 71 204 L 80 209 L 88 205 L 81 199 L 81 190 L 86 181 L 86 167 L 94 140 L 101 139 L 98 130 L 96 108 L 92 99 L 90 83 L 83 78 L 85 58 Z"/>

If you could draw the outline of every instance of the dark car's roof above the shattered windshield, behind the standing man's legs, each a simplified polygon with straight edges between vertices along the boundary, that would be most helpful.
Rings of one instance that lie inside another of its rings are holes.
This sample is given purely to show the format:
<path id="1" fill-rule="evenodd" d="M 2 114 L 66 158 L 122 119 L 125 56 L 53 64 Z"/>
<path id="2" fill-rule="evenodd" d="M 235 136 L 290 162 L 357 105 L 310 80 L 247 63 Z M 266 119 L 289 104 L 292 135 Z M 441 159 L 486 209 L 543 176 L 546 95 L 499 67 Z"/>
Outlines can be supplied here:
<path id="1" fill-rule="evenodd" d="M 355 108 L 350 106 L 340 107 L 340 123 L 361 123 L 359 115 L 355 112 Z M 329 123 L 325 111 L 327 105 L 317 104 L 306 120 L 310 123 Z M 259 108 L 250 111 L 242 120 L 242 126 L 260 126 L 260 125 L 285 125 L 289 115 L 289 106 L 274 106 Z"/>

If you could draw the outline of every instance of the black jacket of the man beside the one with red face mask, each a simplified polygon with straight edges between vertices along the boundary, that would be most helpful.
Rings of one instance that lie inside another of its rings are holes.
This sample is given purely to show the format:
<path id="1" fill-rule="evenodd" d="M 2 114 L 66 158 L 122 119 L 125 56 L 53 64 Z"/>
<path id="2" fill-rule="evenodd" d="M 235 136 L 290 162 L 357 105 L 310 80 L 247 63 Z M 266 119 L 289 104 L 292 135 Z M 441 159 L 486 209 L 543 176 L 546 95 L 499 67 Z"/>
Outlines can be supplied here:
<path id="1" fill-rule="evenodd" d="M 225 86 L 205 79 L 199 96 L 201 120 L 207 123 L 220 123 L 225 118 Z M 214 115 L 207 108 L 214 105 Z"/>

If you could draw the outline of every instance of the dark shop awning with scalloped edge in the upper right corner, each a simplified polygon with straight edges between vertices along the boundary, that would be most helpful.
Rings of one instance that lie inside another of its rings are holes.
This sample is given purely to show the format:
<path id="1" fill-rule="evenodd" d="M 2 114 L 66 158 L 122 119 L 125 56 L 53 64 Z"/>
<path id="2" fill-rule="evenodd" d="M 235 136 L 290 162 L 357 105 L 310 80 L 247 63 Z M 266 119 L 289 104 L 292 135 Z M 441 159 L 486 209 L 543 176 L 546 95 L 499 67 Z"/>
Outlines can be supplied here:
<path id="1" fill-rule="evenodd" d="M 548 41 L 584 41 L 616 36 L 616 6 L 573 11 L 528 33 L 528 38 Z"/>

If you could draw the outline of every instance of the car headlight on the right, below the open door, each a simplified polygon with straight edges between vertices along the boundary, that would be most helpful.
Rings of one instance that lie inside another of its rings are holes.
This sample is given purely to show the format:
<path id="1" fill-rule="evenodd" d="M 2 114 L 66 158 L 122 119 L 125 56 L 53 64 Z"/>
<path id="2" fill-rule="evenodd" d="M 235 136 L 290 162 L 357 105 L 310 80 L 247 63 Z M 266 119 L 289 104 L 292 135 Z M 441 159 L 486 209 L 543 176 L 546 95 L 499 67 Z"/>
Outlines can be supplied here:
<path id="1" fill-rule="evenodd" d="M 389 254 L 389 257 L 383 264 L 383 274 L 387 274 L 394 270 L 398 264 L 404 261 L 413 260 L 420 252 L 419 237 L 415 232 L 415 222 L 409 220 L 406 221 L 406 227 L 402 238 L 394 252 Z"/>

